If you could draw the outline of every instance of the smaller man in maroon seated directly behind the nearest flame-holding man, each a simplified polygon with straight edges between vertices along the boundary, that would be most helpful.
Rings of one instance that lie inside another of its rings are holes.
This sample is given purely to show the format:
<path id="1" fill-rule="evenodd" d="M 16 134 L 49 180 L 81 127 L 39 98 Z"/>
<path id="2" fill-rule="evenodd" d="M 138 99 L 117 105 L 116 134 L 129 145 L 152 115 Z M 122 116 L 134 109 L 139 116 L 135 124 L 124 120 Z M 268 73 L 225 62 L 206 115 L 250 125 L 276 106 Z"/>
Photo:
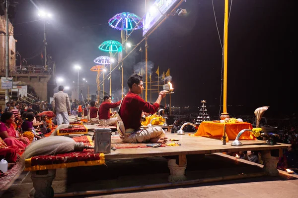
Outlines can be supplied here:
<path id="1" fill-rule="evenodd" d="M 116 126 L 117 118 L 111 118 L 111 114 L 114 115 L 116 112 L 110 113 L 111 108 L 115 108 L 120 105 L 121 100 L 112 103 L 111 96 L 104 96 L 103 102 L 99 106 L 99 126 Z"/>

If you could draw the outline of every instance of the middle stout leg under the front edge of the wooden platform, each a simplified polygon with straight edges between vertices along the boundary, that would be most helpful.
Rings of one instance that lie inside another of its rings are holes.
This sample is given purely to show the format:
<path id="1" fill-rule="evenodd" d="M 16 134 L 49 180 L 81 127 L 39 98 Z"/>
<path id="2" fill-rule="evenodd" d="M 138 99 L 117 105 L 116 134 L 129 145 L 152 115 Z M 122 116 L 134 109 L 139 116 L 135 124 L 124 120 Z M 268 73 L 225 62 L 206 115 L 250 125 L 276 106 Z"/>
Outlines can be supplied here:
<path id="1" fill-rule="evenodd" d="M 179 164 L 176 164 L 176 159 L 168 159 L 168 168 L 170 169 L 170 175 L 168 182 L 182 182 L 186 180 L 186 155 L 179 155 Z"/>

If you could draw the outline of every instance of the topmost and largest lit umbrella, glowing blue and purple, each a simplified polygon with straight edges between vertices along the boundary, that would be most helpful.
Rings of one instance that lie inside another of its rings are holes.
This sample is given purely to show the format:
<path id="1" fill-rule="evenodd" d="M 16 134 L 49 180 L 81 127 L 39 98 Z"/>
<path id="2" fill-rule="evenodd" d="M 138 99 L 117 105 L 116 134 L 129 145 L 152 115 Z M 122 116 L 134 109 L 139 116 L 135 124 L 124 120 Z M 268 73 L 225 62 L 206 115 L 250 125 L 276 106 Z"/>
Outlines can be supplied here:
<path id="1" fill-rule="evenodd" d="M 109 20 L 109 25 L 117 30 L 133 30 L 141 29 L 143 27 L 143 23 L 139 21 L 141 18 L 130 12 L 122 12 L 118 13 Z M 139 24 L 138 24 L 139 23 Z M 137 25 L 138 24 L 138 25 Z"/>

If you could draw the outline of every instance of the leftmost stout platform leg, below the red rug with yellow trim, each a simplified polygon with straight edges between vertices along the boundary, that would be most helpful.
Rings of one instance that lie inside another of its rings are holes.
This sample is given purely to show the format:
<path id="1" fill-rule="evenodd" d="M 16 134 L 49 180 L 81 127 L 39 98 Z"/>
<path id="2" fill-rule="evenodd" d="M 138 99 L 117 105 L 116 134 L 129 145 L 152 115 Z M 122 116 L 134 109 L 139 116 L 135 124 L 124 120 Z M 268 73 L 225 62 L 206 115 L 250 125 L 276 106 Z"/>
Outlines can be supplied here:
<path id="1" fill-rule="evenodd" d="M 56 177 L 56 169 L 34 171 L 31 173 L 33 188 L 29 197 L 34 198 L 54 198 L 52 182 Z"/>

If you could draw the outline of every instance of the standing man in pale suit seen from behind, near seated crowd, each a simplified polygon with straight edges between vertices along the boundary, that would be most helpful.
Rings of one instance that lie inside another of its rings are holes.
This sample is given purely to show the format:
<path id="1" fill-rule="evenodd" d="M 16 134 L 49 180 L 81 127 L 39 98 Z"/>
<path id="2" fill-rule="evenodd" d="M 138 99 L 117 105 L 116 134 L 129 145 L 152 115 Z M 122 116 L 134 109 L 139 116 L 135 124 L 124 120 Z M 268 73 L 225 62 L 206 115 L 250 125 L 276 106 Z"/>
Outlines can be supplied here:
<path id="1" fill-rule="evenodd" d="M 58 88 L 59 92 L 53 97 L 53 111 L 57 115 L 57 125 L 69 124 L 69 115 L 71 114 L 71 103 L 67 93 L 64 93 L 64 87 Z"/>

